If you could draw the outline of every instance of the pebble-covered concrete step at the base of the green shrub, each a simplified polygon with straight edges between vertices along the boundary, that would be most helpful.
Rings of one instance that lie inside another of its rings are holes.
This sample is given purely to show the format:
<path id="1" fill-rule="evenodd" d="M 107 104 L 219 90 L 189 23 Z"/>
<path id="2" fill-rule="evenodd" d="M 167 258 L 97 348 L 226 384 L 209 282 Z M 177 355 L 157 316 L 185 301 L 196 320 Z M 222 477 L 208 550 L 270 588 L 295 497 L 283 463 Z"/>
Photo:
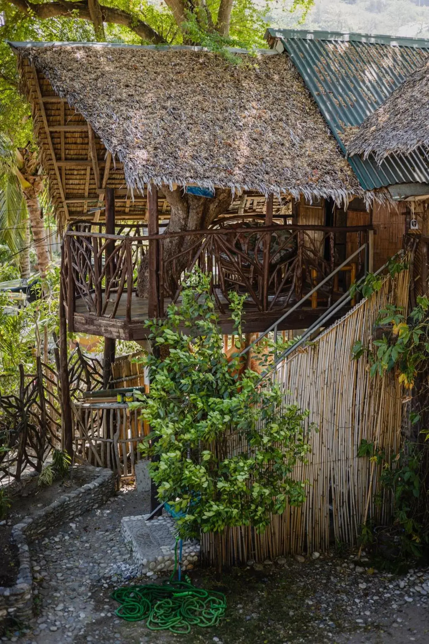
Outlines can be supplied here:
<path id="1" fill-rule="evenodd" d="M 156 571 L 174 569 L 176 526 L 171 516 L 158 516 L 147 521 L 148 516 L 124 516 L 121 533 L 125 542 L 131 545 L 132 556 L 140 567 L 140 573 L 151 577 Z M 198 558 L 198 542 L 183 542 L 182 570 L 192 568 Z"/>

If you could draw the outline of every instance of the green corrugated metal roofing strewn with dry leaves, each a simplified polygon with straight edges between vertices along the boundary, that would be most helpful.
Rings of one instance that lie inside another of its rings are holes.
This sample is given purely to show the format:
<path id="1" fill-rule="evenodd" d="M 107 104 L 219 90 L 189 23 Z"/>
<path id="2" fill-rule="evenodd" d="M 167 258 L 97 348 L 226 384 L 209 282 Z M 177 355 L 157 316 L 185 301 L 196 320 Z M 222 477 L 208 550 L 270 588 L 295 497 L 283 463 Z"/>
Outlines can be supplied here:
<path id="1" fill-rule="evenodd" d="M 269 29 L 280 41 L 345 152 L 344 128 L 358 126 L 429 56 L 429 41 L 359 33 Z M 428 151 L 349 162 L 367 190 L 401 183 L 429 183 Z"/>

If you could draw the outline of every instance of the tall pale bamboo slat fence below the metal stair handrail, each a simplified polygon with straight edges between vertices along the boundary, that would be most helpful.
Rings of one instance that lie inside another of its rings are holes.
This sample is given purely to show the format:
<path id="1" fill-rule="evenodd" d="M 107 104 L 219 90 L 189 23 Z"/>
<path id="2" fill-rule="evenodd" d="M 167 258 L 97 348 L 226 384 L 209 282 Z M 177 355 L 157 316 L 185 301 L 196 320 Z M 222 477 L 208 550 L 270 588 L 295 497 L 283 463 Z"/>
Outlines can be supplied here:
<path id="1" fill-rule="evenodd" d="M 363 300 L 327 329 L 315 343 L 297 350 L 280 365 L 277 379 L 284 403 L 310 410 L 315 422 L 312 453 L 298 465 L 295 477 L 308 480 L 302 507 L 273 516 L 263 535 L 250 527 L 233 528 L 223 536 L 225 562 L 263 561 L 289 553 L 324 551 L 338 540 L 356 544 L 368 506 L 368 518 L 388 520 L 390 499 L 374 505 L 379 471 L 367 457 L 358 457 L 361 439 L 376 442 L 387 453 L 401 440 L 401 386 L 393 375 L 370 378 L 367 361 L 351 359 L 354 343 L 367 345 L 380 308 L 392 302 L 408 305 L 409 274 L 385 278 L 381 290 Z M 371 471 L 372 468 L 372 471 Z M 228 540 L 228 544 L 226 541 Z M 212 535 L 203 535 L 202 553 L 214 562 Z"/>

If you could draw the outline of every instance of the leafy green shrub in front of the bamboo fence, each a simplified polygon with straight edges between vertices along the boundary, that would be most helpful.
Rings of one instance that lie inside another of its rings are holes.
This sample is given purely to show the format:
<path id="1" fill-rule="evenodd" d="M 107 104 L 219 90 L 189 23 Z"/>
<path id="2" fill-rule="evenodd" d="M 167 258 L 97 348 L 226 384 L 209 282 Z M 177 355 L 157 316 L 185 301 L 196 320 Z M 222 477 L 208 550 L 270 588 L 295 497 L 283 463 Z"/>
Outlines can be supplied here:
<path id="1" fill-rule="evenodd" d="M 244 297 L 230 299 L 239 347 Z M 207 276 L 189 276 L 180 309 L 170 305 L 167 319 L 148 326 L 151 393 L 134 406 L 151 425 L 139 447 L 159 459 L 151 464 L 158 498 L 183 513 L 183 537 L 232 526 L 262 533 L 272 515 L 306 498 L 293 469 L 310 451 L 308 412 L 283 405 L 271 379 L 240 373 L 238 352 L 228 362 Z"/>

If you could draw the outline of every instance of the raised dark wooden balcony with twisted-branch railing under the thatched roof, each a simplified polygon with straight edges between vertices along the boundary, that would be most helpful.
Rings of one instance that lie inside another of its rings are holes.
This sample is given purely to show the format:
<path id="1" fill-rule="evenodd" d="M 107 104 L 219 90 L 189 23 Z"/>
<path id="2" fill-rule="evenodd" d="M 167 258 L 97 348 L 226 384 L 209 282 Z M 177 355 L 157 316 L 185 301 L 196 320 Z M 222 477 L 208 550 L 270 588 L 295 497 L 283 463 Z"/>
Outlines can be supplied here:
<path id="1" fill-rule="evenodd" d="M 226 223 L 205 231 L 143 235 L 135 225 L 106 234 L 100 223 L 77 224 L 66 232 L 62 253 L 69 331 L 144 339 L 145 321 L 165 316 L 171 302 L 180 304 L 183 276 L 196 266 L 211 275 L 223 333 L 232 332 L 231 290 L 247 294 L 244 332 L 264 331 L 367 242 L 370 230 L 370 225 L 228 227 Z M 337 274 L 329 280 L 278 330 L 309 327 L 363 274 L 363 255 L 360 252 L 339 278 Z M 141 261 L 147 267 L 147 298 L 137 294 Z"/>

